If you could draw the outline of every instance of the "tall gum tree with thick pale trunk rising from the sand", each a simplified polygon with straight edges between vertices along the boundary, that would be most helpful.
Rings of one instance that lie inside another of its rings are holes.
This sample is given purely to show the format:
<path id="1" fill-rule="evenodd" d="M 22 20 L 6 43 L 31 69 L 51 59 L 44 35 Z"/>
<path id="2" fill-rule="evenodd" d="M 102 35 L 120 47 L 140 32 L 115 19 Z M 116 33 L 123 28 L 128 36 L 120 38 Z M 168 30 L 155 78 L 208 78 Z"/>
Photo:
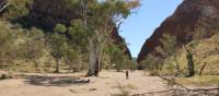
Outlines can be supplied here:
<path id="1" fill-rule="evenodd" d="M 138 0 L 81 0 L 83 26 L 90 33 L 88 76 L 99 75 L 103 48 L 111 33 L 137 7 Z"/>

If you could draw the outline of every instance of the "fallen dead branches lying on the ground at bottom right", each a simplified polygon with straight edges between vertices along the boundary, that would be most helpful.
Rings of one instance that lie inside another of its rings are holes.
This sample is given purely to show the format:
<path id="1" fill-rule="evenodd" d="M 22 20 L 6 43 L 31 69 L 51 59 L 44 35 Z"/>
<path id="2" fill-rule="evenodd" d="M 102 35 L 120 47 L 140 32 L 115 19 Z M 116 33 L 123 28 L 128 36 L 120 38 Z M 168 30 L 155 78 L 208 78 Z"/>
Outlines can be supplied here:
<path id="1" fill-rule="evenodd" d="M 175 79 L 168 79 L 160 76 L 160 79 L 168 82 L 168 86 L 170 89 L 159 91 L 159 92 L 149 92 L 149 93 L 141 93 L 141 94 L 134 94 L 131 96 L 149 96 L 154 94 L 163 94 L 168 96 L 218 96 L 219 95 L 219 86 L 214 88 L 188 88 L 175 82 Z"/>

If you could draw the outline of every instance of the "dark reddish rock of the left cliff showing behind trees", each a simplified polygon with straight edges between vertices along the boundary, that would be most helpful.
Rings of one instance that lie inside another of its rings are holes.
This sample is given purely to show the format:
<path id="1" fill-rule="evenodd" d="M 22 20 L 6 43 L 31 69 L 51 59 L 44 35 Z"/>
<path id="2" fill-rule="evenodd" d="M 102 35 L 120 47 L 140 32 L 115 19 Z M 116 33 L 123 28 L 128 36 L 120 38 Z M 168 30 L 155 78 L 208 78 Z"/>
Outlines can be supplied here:
<path id="1" fill-rule="evenodd" d="M 53 28 L 57 23 L 69 25 L 70 21 L 80 19 L 81 15 L 77 13 L 80 10 L 79 7 L 68 7 L 67 3 L 66 0 L 34 0 L 30 7 L 30 20 L 46 28 Z M 117 45 L 125 44 L 117 29 L 112 32 L 112 38 Z M 131 59 L 129 49 L 127 46 L 125 48 L 125 53 Z"/>

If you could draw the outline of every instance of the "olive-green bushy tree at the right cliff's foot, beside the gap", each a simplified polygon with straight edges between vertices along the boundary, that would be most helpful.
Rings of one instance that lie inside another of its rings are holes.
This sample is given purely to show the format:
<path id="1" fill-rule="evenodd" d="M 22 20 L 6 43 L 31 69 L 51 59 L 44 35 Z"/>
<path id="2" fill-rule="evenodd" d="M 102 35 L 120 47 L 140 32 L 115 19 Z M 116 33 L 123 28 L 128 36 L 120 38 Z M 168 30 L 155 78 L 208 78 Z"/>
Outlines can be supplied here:
<path id="1" fill-rule="evenodd" d="M 162 71 L 168 70 L 180 72 L 180 62 L 177 61 L 177 49 L 176 38 L 172 35 L 164 34 L 160 39 L 161 46 L 155 48 L 155 52 L 149 53 L 141 65 L 145 70 L 149 71 Z"/>

